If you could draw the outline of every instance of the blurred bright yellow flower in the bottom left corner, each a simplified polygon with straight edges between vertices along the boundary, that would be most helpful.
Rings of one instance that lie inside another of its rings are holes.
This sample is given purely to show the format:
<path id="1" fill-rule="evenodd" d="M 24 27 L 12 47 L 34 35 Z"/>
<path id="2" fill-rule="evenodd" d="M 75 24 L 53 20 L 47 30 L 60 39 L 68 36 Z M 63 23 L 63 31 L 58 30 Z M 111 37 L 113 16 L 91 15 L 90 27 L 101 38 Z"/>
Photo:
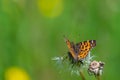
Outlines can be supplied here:
<path id="1" fill-rule="evenodd" d="M 5 80 L 30 80 L 30 77 L 25 70 L 11 67 L 5 71 Z"/>

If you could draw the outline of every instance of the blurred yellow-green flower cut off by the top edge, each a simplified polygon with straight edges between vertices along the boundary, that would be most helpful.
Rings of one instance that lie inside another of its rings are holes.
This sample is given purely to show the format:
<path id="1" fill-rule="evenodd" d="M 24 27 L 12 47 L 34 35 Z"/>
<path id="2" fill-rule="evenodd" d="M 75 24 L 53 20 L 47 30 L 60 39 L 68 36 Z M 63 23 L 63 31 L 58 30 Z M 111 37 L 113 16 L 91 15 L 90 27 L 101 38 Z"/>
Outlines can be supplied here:
<path id="1" fill-rule="evenodd" d="M 62 0 L 37 0 L 40 12 L 49 18 L 55 18 L 62 13 Z"/>

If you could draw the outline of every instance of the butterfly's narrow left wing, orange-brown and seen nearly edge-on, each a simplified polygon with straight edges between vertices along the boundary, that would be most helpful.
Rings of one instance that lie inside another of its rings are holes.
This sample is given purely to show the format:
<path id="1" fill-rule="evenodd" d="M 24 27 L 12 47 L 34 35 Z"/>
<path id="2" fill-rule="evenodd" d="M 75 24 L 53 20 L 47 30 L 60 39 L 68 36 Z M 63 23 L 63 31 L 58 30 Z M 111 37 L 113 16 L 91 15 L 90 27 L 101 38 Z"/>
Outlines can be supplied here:
<path id="1" fill-rule="evenodd" d="M 74 49 L 75 45 L 73 43 L 71 43 L 68 39 L 65 39 L 65 41 L 66 41 L 66 44 L 68 46 L 71 56 L 76 60 L 77 56 L 75 54 L 75 49 Z"/>

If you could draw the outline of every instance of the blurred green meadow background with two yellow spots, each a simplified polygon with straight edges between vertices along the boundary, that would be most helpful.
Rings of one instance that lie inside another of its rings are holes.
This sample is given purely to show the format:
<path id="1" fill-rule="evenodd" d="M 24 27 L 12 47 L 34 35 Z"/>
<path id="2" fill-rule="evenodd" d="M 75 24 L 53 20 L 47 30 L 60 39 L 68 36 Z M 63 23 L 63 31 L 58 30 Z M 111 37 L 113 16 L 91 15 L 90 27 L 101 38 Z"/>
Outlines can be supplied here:
<path id="1" fill-rule="evenodd" d="M 64 35 L 95 39 L 101 80 L 120 78 L 119 0 L 0 0 L 0 80 L 81 80 L 51 60 L 67 53 Z"/>

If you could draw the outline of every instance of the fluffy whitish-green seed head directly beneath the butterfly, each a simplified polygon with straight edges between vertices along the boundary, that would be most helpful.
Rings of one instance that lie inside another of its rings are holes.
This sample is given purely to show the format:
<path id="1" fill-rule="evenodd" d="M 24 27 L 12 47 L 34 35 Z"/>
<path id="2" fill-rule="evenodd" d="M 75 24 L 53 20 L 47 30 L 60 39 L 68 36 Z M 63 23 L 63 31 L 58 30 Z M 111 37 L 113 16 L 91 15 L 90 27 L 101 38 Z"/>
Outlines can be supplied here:
<path id="1" fill-rule="evenodd" d="M 67 69 L 71 72 L 71 74 L 77 74 L 80 75 L 83 69 L 87 69 L 90 62 L 92 61 L 94 56 L 90 55 L 91 53 L 88 53 L 88 56 L 81 61 L 78 61 L 76 63 L 71 62 L 71 58 L 68 57 L 68 55 L 65 55 L 63 57 L 54 57 L 52 58 L 53 61 L 56 61 L 57 65 L 60 66 L 67 66 Z"/>

